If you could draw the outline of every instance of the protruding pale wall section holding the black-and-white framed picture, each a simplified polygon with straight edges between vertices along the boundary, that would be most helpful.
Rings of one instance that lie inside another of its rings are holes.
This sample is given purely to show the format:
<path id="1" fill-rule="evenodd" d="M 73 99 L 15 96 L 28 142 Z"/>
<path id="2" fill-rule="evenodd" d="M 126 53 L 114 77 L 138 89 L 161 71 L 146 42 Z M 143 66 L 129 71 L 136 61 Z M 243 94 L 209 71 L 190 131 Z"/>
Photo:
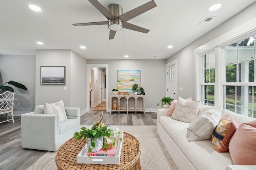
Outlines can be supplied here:
<path id="1" fill-rule="evenodd" d="M 86 64 L 71 50 L 36 50 L 36 106 L 63 99 L 65 107 L 86 110 Z M 40 66 L 66 66 L 66 84 L 40 84 Z"/>

